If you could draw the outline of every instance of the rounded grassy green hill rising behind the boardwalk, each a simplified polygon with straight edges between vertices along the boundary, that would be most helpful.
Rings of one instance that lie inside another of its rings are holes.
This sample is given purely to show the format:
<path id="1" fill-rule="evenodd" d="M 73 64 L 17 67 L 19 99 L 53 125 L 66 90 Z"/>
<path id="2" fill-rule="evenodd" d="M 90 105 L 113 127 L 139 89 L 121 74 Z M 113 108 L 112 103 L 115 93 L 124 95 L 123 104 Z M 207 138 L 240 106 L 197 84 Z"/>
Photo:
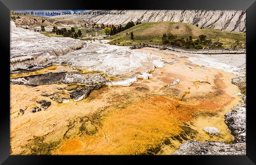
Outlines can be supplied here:
<path id="1" fill-rule="evenodd" d="M 130 33 L 133 32 L 134 40 L 131 40 Z M 128 34 L 126 34 L 128 33 Z M 177 38 L 187 38 L 189 35 L 195 40 L 199 35 L 206 35 L 209 39 L 217 39 L 223 43 L 224 48 L 229 48 L 232 43 L 239 40 L 245 43 L 245 33 L 236 31 L 224 31 L 197 27 L 195 25 L 181 22 L 148 22 L 126 29 L 121 33 L 109 37 L 109 44 L 133 45 L 143 43 L 162 44 L 163 33 L 172 33 Z"/>

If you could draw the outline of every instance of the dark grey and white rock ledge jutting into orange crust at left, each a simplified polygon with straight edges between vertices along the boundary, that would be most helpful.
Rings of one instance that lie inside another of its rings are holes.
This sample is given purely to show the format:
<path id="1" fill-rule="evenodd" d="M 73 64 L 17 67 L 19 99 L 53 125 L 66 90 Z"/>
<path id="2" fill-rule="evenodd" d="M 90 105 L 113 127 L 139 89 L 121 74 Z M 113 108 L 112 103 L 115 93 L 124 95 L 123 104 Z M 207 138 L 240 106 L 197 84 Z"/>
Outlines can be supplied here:
<path id="1" fill-rule="evenodd" d="M 26 77 L 19 77 L 15 79 L 10 79 L 11 84 L 25 84 L 25 85 L 48 85 L 56 83 L 80 83 L 86 84 L 88 86 L 82 85 L 78 89 L 78 85 L 71 85 L 70 87 L 65 88 L 70 93 L 70 97 L 59 97 L 58 94 L 43 94 L 42 96 L 49 97 L 50 99 L 62 103 L 63 99 L 74 99 L 74 101 L 81 101 L 91 90 L 99 89 L 103 84 L 108 82 L 101 73 L 88 73 L 88 74 L 79 74 L 77 72 L 58 72 L 58 73 L 45 73 L 38 75 L 30 75 Z M 63 90 L 63 88 L 57 88 L 58 90 Z M 41 101 L 42 102 L 42 101 Z M 43 102 L 42 102 L 43 103 Z"/>

